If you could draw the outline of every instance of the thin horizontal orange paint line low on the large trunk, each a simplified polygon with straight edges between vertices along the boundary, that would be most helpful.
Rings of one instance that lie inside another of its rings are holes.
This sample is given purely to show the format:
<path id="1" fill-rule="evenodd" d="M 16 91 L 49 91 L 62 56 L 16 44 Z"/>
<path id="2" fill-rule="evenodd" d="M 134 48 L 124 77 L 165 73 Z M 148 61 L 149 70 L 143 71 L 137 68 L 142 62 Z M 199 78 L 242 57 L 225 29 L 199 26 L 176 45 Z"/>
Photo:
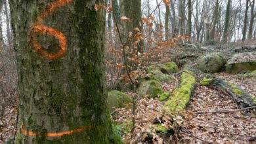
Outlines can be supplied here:
<path id="1" fill-rule="evenodd" d="M 21 130 L 23 135 L 27 135 L 27 136 L 45 135 L 47 137 L 60 137 L 60 136 L 63 136 L 63 135 L 70 135 L 70 134 L 83 132 L 83 131 L 91 129 L 91 128 L 97 128 L 97 126 L 95 126 L 95 127 L 93 127 L 93 126 L 84 126 L 84 127 L 81 127 L 81 128 L 77 128 L 75 130 L 70 130 L 70 131 L 65 131 L 65 132 L 35 133 L 35 132 L 28 131 L 25 128 L 25 126 L 22 125 L 20 127 L 20 130 Z"/>

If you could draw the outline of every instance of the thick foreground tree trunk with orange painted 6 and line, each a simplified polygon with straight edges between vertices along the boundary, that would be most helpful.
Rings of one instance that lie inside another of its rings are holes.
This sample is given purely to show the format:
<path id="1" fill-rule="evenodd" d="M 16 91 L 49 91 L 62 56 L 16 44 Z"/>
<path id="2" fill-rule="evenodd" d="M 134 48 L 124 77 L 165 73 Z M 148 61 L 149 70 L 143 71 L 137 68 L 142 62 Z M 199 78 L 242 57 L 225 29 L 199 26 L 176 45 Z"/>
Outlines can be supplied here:
<path id="1" fill-rule="evenodd" d="M 10 4 L 20 99 L 16 143 L 111 143 L 105 11 L 79 0 Z"/>

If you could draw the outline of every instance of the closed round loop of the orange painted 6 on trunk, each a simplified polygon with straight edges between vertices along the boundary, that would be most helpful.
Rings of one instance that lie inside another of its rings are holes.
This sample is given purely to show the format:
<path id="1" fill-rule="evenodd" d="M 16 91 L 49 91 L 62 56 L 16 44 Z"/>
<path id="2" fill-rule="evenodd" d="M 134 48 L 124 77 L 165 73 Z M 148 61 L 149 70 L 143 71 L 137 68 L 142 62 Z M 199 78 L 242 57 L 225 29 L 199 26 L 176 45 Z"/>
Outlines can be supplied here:
<path id="1" fill-rule="evenodd" d="M 32 34 L 32 42 L 33 42 L 33 48 L 43 56 L 49 59 L 56 59 L 59 58 L 64 54 L 64 52 L 67 50 L 66 48 L 66 37 L 63 33 L 60 31 L 57 31 L 56 29 L 53 29 L 51 27 L 45 27 L 45 26 L 34 26 L 32 28 L 33 34 Z M 59 41 L 60 50 L 58 52 L 51 54 L 47 52 L 46 50 L 43 50 L 42 46 L 38 43 L 37 38 L 35 37 L 35 33 L 40 34 L 47 34 L 47 35 L 54 35 L 56 39 Z"/>

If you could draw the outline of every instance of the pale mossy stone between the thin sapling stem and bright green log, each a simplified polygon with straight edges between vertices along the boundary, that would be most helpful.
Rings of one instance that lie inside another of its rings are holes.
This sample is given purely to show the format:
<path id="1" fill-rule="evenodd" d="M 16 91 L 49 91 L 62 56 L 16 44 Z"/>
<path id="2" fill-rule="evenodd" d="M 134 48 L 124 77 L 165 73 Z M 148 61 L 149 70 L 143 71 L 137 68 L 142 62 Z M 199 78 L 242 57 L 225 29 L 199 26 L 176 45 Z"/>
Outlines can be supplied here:
<path id="1" fill-rule="evenodd" d="M 148 95 L 148 98 L 156 98 L 158 94 L 162 94 L 163 89 L 159 81 L 150 80 L 142 81 L 139 86 L 139 95 L 145 96 Z"/>

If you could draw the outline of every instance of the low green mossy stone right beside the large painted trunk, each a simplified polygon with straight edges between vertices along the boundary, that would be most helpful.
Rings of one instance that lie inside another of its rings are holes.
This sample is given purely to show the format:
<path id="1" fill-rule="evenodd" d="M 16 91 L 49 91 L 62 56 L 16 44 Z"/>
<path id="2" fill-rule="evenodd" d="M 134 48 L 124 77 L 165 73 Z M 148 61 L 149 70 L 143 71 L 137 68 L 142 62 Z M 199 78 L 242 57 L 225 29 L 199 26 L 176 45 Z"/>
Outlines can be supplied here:
<path id="1" fill-rule="evenodd" d="M 108 92 L 108 107 L 124 107 L 125 103 L 130 103 L 132 98 L 118 90 Z"/>

